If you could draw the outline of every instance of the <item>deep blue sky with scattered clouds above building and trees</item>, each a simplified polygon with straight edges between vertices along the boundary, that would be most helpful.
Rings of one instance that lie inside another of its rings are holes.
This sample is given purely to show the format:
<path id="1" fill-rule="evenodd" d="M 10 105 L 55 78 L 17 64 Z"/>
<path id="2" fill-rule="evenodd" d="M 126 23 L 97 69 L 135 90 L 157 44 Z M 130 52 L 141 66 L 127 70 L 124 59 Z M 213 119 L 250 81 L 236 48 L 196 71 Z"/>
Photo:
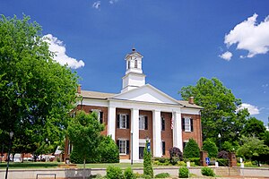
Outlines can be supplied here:
<path id="1" fill-rule="evenodd" d="M 82 77 L 82 90 L 118 93 L 134 46 L 146 82 L 178 90 L 217 77 L 244 107 L 269 116 L 267 0 L 1 0 L 0 13 L 30 15 L 51 38 L 59 63 Z M 266 19 L 267 17 L 267 19 Z"/>

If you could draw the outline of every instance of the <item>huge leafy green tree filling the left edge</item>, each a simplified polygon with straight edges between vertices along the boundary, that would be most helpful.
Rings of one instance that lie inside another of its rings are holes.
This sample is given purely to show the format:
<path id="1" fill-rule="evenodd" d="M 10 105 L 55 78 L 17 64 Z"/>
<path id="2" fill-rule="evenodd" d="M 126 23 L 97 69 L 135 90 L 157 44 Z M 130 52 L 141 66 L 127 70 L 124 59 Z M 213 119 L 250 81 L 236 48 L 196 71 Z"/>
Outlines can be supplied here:
<path id="1" fill-rule="evenodd" d="M 77 75 L 53 60 L 37 22 L 0 18 L 0 138 L 13 131 L 13 144 L 38 149 L 63 138 L 74 107 Z M 4 137 L 5 136 L 5 137 Z M 15 149 L 17 152 L 23 147 Z M 23 152 L 23 151 L 21 151 Z"/>

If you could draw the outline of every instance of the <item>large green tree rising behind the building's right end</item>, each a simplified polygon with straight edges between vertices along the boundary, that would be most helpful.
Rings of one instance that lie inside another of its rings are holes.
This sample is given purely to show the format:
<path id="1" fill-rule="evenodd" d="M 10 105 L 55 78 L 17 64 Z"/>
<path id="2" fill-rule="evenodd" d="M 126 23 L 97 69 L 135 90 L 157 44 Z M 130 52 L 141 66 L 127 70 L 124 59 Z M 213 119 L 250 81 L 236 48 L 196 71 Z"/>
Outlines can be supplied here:
<path id="1" fill-rule="evenodd" d="M 247 109 L 237 113 L 241 100 L 235 98 L 231 90 L 227 89 L 220 80 L 201 78 L 195 86 L 183 87 L 180 94 L 185 100 L 194 97 L 195 104 L 204 107 L 202 110 L 204 140 L 212 138 L 217 143 L 219 133 L 221 141 L 239 139 L 239 132 L 249 114 Z"/>

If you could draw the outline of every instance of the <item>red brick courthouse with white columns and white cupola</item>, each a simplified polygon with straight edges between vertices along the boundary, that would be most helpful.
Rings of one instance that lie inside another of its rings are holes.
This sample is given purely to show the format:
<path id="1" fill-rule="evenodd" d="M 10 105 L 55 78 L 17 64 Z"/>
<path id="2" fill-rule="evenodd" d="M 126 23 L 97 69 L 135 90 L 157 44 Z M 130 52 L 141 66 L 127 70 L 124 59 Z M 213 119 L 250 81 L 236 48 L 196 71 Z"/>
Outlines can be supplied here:
<path id="1" fill-rule="evenodd" d="M 96 111 L 104 135 L 117 142 L 121 161 L 141 161 L 146 140 L 151 143 L 153 157 L 169 157 L 169 149 L 181 151 L 193 138 L 202 146 L 201 110 L 188 101 L 169 97 L 151 84 L 145 83 L 143 55 L 135 49 L 126 55 L 126 74 L 120 93 L 78 89 L 82 100 L 77 109 Z M 66 158 L 70 148 L 65 148 Z"/>

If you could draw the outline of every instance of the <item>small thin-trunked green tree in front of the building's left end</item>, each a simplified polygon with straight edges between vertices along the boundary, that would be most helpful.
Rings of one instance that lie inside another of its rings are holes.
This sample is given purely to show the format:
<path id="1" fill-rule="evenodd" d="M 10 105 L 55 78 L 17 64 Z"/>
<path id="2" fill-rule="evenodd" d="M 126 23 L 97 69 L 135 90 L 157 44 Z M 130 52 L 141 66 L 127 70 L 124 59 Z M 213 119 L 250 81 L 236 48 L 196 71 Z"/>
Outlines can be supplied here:
<path id="1" fill-rule="evenodd" d="M 73 143 L 74 149 L 77 150 L 76 155 L 83 159 L 83 170 L 87 158 L 96 156 L 96 149 L 100 145 L 100 132 L 104 130 L 104 126 L 98 121 L 96 113 L 87 115 L 83 111 L 77 112 L 76 116 L 71 119 L 67 133 L 69 140 Z M 83 178 L 85 177 L 83 172 Z"/>

